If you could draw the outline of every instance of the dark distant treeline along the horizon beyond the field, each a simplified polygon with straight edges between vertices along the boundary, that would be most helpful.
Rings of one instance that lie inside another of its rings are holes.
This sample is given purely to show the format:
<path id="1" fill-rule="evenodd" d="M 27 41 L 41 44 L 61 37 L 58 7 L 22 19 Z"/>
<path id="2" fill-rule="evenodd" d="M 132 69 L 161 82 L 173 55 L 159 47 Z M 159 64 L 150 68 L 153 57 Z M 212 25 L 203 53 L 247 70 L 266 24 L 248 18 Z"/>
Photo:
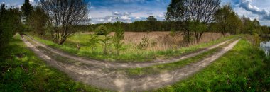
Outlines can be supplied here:
<path id="1" fill-rule="evenodd" d="M 257 31 L 260 34 L 269 34 L 270 27 L 258 25 L 258 21 L 255 19 L 251 21 L 249 18 L 242 16 L 242 23 L 237 30 L 230 30 L 229 33 L 253 33 Z M 92 32 L 95 31 L 100 25 L 106 26 L 109 30 L 114 31 L 113 27 L 115 23 L 99 23 L 92 25 L 76 25 L 74 28 L 80 32 Z M 125 31 L 131 32 L 151 32 L 151 31 L 181 31 L 183 28 L 182 23 L 174 21 L 134 21 L 133 23 L 121 23 L 121 26 Z M 220 32 L 217 27 L 217 23 L 208 24 L 207 32 Z"/>

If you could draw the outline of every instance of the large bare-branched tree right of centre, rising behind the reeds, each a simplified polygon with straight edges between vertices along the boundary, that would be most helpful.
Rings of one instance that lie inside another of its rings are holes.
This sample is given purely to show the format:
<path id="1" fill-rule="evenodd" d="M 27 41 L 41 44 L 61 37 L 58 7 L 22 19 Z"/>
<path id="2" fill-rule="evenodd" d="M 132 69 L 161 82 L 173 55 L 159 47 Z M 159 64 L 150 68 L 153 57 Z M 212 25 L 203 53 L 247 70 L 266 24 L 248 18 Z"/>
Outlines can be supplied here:
<path id="1" fill-rule="evenodd" d="M 185 30 L 190 35 L 190 23 L 195 26 L 210 23 L 219 7 L 220 0 L 172 0 L 167 8 L 166 18 L 169 21 L 183 22 Z M 205 31 L 193 31 L 197 41 L 205 33 Z"/>

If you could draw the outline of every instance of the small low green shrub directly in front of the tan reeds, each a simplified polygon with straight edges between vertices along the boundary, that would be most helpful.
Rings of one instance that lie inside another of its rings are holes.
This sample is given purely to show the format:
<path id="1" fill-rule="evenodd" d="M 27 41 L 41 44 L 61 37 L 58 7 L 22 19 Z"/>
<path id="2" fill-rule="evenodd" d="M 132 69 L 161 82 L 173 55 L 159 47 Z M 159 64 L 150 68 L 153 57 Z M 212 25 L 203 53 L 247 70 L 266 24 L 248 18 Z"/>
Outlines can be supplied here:
<path id="1" fill-rule="evenodd" d="M 144 51 L 145 54 L 147 54 L 148 46 L 149 46 L 149 38 L 146 38 L 144 36 L 144 38 L 141 38 L 141 42 L 136 47 L 137 47 L 138 50 Z"/>

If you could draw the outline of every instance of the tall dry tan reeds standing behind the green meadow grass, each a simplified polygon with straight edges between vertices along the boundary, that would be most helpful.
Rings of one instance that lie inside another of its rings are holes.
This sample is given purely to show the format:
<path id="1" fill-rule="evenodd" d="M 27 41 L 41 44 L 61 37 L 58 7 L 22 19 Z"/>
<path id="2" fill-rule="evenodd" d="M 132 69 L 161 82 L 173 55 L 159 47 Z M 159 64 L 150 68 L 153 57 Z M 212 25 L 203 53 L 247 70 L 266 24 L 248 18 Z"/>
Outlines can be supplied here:
<path id="1" fill-rule="evenodd" d="M 91 33 L 87 33 L 91 34 Z M 109 35 L 114 35 L 114 32 Z M 229 34 L 226 34 L 228 36 Z M 158 51 L 158 50 L 168 50 L 168 49 L 177 49 L 180 47 L 186 47 L 183 40 L 183 33 L 175 33 L 174 35 L 170 35 L 169 31 L 161 32 L 125 32 L 124 33 L 124 43 L 126 45 L 138 45 L 141 42 L 141 39 L 144 38 L 149 39 L 150 46 L 148 50 Z M 204 42 L 210 42 L 212 40 L 217 40 L 221 38 L 222 35 L 220 33 L 204 33 L 199 43 L 191 43 L 190 45 L 196 45 Z"/>

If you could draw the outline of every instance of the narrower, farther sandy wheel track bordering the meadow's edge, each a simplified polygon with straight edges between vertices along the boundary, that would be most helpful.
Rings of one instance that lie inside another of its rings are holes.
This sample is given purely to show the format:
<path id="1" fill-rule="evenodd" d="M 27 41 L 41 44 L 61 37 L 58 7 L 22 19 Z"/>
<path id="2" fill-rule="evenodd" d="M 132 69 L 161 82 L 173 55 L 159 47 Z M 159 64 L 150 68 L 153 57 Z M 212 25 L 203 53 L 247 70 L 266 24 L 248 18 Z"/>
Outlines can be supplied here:
<path id="1" fill-rule="evenodd" d="M 22 36 L 25 37 L 25 38 L 26 37 L 30 38 L 27 35 L 26 36 L 22 35 Z M 112 69 L 149 67 L 149 66 L 153 66 L 153 65 L 157 65 L 157 64 L 166 64 L 166 63 L 171 63 L 171 62 L 178 62 L 180 60 L 187 59 L 187 58 L 190 58 L 190 57 L 195 57 L 198 54 L 201 54 L 203 52 L 207 52 L 209 50 L 215 49 L 215 48 L 219 47 L 220 45 L 224 45 L 225 43 L 230 41 L 230 40 L 227 40 L 227 41 L 221 42 L 221 43 L 219 43 L 217 45 L 212 45 L 211 47 L 207 47 L 205 50 L 201 50 L 200 52 L 186 54 L 186 55 L 183 55 L 183 56 L 180 56 L 180 57 L 172 57 L 170 59 L 155 59 L 155 60 L 153 60 L 151 62 L 141 62 L 141 63 L 138 63 L 138 62 L 136 62 L 136 63 L 131 63 L 131 62 L 129 62 L 129 63 L 117 63 L 117 62 L 103 62 L 103 61 L 98 61 L 98 60 L 95 60 L 95 59 L 84 59 L 82 57 L 77 57 L 77 56 L 74 56 L 74 55 L 66 54 L 64 52 L 60 52 L 59 50 L 55 50 L 55 49 L 53 49 L 51 47 L 48 47 L 47 45 L 43 45 L 41 42 L 38 42 L 37 40 L 34 40 L 33 38 L 30 38 L 30 40 L 32 42 L 35 42 L 36 45 L 44 47 L 45 49 L 50 50 L 50 52 L 54 52 L 54 53 L 59 54 L 59 55 L 61 55 L 63 57 L 67 57 L 68 59 L 74 59 L 74 60 L 83 62 L 85 64 L 92 64 L 92 65 L 96 65 L 96 66 L 99 66 L 99 67 L 112 68 Z"/>

